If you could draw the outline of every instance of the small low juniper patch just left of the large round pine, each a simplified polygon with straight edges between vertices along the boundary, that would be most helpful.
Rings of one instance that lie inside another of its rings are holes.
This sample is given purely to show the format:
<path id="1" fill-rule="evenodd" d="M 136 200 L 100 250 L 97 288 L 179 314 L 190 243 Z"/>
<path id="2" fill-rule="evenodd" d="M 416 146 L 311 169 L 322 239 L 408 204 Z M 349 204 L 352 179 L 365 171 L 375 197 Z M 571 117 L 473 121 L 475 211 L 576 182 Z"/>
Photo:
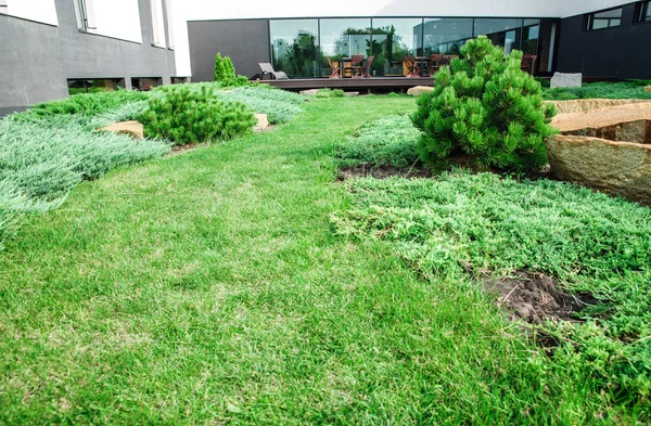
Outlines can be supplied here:
<path id="1" fill-rule="evenodd" d="M 420 131 L 407 115 L 391 115 L 361 127 L 337 146 L 340 166 L 407 168 L 418 162 Z"/>

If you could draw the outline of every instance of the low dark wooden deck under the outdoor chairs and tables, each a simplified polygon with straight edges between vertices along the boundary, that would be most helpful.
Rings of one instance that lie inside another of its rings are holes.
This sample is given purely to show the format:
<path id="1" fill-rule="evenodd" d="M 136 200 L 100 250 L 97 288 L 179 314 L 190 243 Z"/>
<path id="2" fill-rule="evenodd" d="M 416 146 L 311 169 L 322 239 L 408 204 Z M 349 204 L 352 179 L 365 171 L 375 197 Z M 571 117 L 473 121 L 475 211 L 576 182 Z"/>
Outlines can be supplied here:
<path id="1" fill-rule="evenodd" d="M 373 78 L 297 78 L 289 80 L 260 80 L 260 83 L 285 90 L 342 89 L 344 91 L 406 91 L 414 86 L 433 86 L 432 77 L 373 77 Z"/>

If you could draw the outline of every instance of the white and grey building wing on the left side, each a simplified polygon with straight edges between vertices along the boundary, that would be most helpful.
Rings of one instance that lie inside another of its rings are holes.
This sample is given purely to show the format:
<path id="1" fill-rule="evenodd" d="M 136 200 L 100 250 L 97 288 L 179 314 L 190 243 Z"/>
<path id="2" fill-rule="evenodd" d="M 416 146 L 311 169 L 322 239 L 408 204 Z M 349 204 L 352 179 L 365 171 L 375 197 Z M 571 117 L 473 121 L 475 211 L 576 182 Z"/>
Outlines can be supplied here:
<path id="1" fill-rule="evenodd" d="M 171 0 L 0 0 L 0 116 L 176 77 Z"/>

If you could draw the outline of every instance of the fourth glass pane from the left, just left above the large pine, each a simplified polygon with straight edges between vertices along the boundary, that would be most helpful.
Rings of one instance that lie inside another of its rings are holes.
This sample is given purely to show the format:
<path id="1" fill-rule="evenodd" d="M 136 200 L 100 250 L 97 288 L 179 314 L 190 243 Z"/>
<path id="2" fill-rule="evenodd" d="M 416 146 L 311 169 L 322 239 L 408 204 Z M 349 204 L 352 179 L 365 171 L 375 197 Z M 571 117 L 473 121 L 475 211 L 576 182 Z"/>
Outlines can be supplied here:
<path id="1" fill-rule="evenodd" d="M 425 56 L 436 53 L 458 55 L 461 46 L 472 38 L 472 20 L 425 20 L 423 29 Z"/>

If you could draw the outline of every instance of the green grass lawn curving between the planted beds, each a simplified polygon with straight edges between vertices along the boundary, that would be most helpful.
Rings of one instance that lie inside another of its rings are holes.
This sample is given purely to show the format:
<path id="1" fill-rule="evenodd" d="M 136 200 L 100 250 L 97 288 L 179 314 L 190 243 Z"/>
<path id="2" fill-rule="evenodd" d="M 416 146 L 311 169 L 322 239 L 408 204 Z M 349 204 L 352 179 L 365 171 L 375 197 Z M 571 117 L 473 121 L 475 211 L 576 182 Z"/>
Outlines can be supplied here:
<path id="1" fill-rule="evenodd" d="M 336 236 L 335 146 L 412 98 L 114 170 L 0 251 L 0 424 L 634 424 L 471 282 Z"/>

